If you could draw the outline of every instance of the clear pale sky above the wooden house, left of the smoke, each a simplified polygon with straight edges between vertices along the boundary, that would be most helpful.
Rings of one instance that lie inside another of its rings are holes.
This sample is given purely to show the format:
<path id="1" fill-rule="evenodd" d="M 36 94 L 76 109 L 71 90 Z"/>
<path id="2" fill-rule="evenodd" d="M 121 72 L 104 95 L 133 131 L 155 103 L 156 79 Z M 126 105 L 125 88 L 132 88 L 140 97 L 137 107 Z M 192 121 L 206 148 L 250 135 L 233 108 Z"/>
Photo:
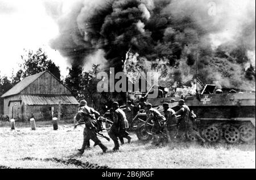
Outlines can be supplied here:
<path id="1" fill-rule="evenodd" d="M 61 76 L 68 74 L 67 60 L 49 47 L 49 40 L 57 36 L 59 29 L 47 15 L 42 0 L 0 0 L 0 24 L 0 76 L 10 77 L 13 70 L 17 71 L 24 49 L 38 48 L 60 66 Z"/>

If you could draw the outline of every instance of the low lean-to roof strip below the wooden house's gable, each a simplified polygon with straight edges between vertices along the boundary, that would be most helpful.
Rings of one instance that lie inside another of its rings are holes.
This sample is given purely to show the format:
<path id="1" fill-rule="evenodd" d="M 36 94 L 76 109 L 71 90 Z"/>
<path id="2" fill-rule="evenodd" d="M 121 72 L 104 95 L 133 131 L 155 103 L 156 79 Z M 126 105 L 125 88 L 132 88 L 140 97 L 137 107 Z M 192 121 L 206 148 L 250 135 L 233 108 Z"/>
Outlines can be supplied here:
<path id="1" fill-rule="evenodd" d="M 57 105 L 61 104 L 79 104 L 75 97 L 72 95 L 54 95 L 50 97 L 39 95 L 22 95 L 22 101 L 26 105 Z"/>

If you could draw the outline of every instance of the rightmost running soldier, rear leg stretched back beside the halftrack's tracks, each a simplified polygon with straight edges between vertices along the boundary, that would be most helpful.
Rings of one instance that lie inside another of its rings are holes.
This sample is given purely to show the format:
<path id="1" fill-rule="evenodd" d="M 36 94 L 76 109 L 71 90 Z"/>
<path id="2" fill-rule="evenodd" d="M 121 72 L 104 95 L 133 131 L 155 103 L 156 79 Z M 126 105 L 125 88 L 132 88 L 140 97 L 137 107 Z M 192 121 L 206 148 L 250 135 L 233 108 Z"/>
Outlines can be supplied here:
<path id="1" fill-rule="evenodd" d="M 205 140 L 203 139 L 203 137 L 200 136 L 199 132 L 193 129 L 193 122 L 192 122 L 192 119 L 190 118 L 190 109 L 185 104 L 185 101 L 183 99 L 179 100 L 179 106 L 180 106 L 180 110 L 175 113 L 175 115 L 181 115 L 178 121 L 179 130 L 183 129 L 185 130 L 186 133 L 195 135 L 203 145 L 205 143 Z"/>

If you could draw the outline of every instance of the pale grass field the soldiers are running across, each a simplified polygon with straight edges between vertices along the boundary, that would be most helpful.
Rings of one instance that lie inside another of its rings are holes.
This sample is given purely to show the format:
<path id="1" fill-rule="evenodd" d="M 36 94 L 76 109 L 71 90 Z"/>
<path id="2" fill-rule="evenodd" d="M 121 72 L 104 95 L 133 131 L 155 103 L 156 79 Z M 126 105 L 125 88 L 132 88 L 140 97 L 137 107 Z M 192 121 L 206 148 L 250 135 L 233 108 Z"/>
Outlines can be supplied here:
<path id="1" fill-rule="evenodd" d="M 100 137 L 107 153 L 96 146 L 79 155 L 82 125 L 73 129 L 72 124 L 61 123 L 57 131 L 51 122 L 36 125 L 31 131 L 30 124 L 18 123 L 11 131 L 8 123 L 0 124 L 0 168 L 255 168 L 255 142 L 156 147 L 131 133 L 131 144 L 122 145 L 119 152 L 112 152 L 113 141 Z"/>

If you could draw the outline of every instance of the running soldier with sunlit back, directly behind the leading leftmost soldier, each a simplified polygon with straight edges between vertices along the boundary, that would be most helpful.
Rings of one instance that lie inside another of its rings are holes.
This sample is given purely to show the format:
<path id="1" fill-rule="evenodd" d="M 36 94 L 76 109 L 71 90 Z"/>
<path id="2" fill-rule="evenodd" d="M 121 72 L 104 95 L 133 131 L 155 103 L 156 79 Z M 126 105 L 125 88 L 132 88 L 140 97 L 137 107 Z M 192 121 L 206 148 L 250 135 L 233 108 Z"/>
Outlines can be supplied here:
<path id="1" fill-rule="evenodd" d="M 129 133 L 126 131 L 129 128 L 128 121 L 125 116 L 125 112 L 119 108 L 118 102 L 113 103 L 113 124 L 110 127 L 109 137 L 114 141 L 113 150 L 119 150 L 118 137 L 122 142 L 123 138 L 128 140 L 128 143 L 131 141 Z"/>

